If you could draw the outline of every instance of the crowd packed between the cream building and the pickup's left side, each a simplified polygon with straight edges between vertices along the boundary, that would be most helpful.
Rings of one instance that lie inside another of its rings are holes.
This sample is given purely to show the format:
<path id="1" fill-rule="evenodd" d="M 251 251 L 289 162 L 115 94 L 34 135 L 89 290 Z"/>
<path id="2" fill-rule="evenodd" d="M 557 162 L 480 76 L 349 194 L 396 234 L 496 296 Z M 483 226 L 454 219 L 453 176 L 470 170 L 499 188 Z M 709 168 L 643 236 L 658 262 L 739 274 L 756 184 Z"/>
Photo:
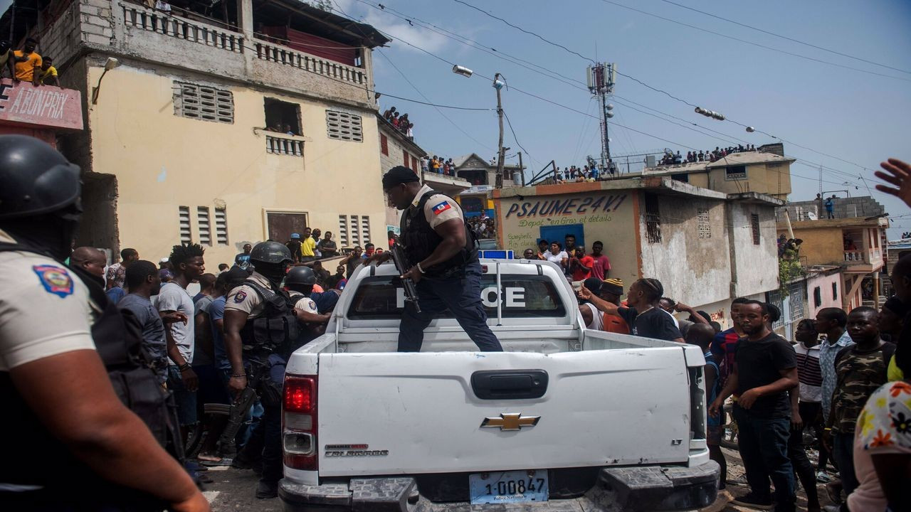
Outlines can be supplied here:
<path id="1" fill-rule="evenodd" d="M 396 236 L 392 231 L 388 234 L 393 244 Z M 69 264 L 97 276 L 99 282 L 104 282 L 108 300 L 138 320 L 143 348 L 151 357 L 159 383 L 173 392 L 184 442 L 192 445 L 192 432 L 200 425 L 208 432 L 204 442 L 188 454 L 193 457 L 187 464 L 190 474 L 205 482 L 209 466 L 261 470 L 257 496 L 274 497 L 281 478 L 281 448 L 267 447 L 269 437 L 264 431 L 278 421 L 275 410 L 253 404 L 244 426 L 230 443 L 220 439 L 224 421 L 204 414 L 205 404 L 231 404 L 231 397 L 237 393 L 229 385 L 236 369 L 226 349 L 230 331 L 226 319 L 232 308 L 257 293 L 251 288 L 251 281 L 257 282 L 256 272 L 260 267 L 266 268 L 257 261 L 262 256 L 257 256 L 256 248 L 262 244 L 272 244 L 273 253 L 277 251 L 275 247 L 287 249 L 287 275 L 279 281 L 285 292 L 301 297 L 298 304 L 309 304 L 300 308 L 295 305 L 301 310 L 295 315 L 302 321 L 296 346 L 322 333 L 353 272 L 374 253 L 383 252 L 367 243 L 343 253 L 333 241 L 332 232 L 303 228 L 284 243 L 244 243 L 232 264 L 220 263 L 217 272 L 206 271 L 205 251 L 198 244 L 174 246 L 158 266 L 141 260 L 138 251 L 128 248 L 120 251 L 120 261 L 106 268 L 106 254 L 90 247 L 74 250 Z M 323 267 L 325 261 L 333 261 L 334 272 Z M 196 286 L 199 291 L 191 295 L 188 290 Z M 268 283 L 263 287 L 268 289 Z M 296 347 L 286 348 L 292 351 Z"/>

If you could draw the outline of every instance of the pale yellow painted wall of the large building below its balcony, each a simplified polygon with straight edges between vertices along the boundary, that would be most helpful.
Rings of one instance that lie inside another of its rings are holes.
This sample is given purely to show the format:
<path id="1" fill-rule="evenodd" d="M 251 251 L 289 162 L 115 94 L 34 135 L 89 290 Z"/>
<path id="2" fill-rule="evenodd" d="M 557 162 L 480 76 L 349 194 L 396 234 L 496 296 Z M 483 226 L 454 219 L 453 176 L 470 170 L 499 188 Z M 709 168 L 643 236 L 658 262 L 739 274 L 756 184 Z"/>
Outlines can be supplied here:
<path id="1" fill-rule="evenodd" d="M 90 67 L 88 83 L 96 84 L 101 71 Z M 176 116 L 174 79 L 230 89 L 233 124 Z M 254 130 L 265 126 L 264 97 L 300 105 L 303 158 L 266 152 L 268 132 Z M 97 105 L 89 107 L 91 170 L 117 175 L 120 247 L 136 248 L 143 259 L 164 257 L 179 242 L 181 205 L 190 208 L 193 241 L 196 207 L 210 207 L 215 243 L 216 200 L 227 205 L 229 244 L 207 246 L 210 269 L 230 263 L 242 242 L 266 238 L 266 209 L 306 212 L 310 226 L 332 230 L 336 241 L 340 214 L 369 215 L 372 241 L 385 241 L 372 112 L 126 65 L 107 72 Z M 362 116 L 363 142 L 327 138 L 327 108 Z"/>

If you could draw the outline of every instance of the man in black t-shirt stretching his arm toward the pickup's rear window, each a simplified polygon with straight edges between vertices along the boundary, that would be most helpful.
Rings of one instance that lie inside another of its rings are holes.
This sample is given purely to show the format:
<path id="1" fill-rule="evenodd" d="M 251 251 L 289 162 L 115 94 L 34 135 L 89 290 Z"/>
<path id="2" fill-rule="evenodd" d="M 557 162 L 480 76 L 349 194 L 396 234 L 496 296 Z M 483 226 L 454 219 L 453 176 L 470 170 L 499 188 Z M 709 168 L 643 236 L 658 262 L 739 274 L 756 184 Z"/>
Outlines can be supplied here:
<path id="1" fill-rule="evenodd" d="M 658 300 L 664 294 L 664 287 L 657 279 L 640 279 L 630 286 L 627 295 L 629 307 L 618 306 L 601 299 L 584 285 L 579 298 L 589 301 L 602 312 L 615 314 L 630 325 L 630 333 L 643 338 L 655 338 L 667 342 L 685 343 L 680 329 L 673 318 L 658 307 Z"/>

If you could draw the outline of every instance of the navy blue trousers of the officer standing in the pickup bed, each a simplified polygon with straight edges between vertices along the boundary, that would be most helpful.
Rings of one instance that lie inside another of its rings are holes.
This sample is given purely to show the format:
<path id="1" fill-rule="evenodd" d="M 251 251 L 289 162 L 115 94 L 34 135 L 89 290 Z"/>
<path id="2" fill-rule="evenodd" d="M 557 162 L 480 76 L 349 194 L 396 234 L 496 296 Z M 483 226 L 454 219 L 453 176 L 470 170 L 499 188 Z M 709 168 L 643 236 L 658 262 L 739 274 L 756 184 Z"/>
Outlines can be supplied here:
<path id="1" fill-rule="evenodd" d="M 441 312 L 449 311 L 481 352 L 503 352 L 500 341 L 487 327 L 487 312 L 481 303 L 481 264 L 469 263 L 464 278 L 422 279 L 417 283 L 421 312 L 405 302 L 399 328 L 399 352 L 421 352 L 424 330 Z"/>

